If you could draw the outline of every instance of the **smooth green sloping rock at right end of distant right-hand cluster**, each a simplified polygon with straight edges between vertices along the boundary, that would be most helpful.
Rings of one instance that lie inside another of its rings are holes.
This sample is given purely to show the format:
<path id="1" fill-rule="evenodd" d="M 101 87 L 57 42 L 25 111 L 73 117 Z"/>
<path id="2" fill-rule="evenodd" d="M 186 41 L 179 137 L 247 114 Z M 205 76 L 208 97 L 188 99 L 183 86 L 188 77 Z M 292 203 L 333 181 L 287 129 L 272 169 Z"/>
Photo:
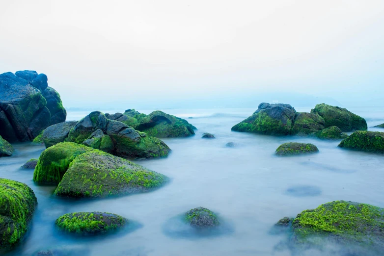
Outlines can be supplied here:
<path id="1" fill-rule="evenodd" d="M 311 113 L 317 113 L 323 117 L 325 127 L 337 126 L 342 131 L 367 130 L 367 122 L 364 118 L 338 106 L 317 104 Z"/>

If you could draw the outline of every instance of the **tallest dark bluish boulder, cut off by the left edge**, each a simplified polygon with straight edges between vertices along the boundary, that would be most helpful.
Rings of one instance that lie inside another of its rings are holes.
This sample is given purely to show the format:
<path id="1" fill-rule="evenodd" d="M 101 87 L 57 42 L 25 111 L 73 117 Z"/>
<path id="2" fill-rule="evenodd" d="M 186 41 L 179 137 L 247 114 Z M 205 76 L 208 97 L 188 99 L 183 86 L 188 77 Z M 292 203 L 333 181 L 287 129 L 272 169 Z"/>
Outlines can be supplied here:
<path id="1" fill-rule="evenodd" d="M 4 139 L 32 141 L 45 128 L 65 121 L 60 96 L 47 85 L 47 76 L 35 71 L 0 75 L 0 135 Z"/>

